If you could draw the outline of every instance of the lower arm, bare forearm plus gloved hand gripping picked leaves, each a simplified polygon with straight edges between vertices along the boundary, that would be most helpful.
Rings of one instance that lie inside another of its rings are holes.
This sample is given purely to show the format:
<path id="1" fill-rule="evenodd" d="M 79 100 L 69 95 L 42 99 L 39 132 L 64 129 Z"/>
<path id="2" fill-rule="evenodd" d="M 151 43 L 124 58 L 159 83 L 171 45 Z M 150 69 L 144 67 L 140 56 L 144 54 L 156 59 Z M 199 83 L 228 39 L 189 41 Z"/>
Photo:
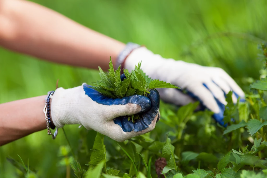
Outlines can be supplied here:
<path id="1" fill-rule="evenodd" d="M 17 100 L 0 105 L 0 146 L 33 132 L 46 129 L 45 97 Z M 56 127 L 80 124 L 116 141 L 124 141 L 147 133 L 159 120 L 159 93 L 151 90 L 146 96 L 133 95 L 122 99 L 108 98 L 87 84 L 58 88 L 51 96 L 50 114 Z M 125 115 L 139 113 L 133 123 Z"/>

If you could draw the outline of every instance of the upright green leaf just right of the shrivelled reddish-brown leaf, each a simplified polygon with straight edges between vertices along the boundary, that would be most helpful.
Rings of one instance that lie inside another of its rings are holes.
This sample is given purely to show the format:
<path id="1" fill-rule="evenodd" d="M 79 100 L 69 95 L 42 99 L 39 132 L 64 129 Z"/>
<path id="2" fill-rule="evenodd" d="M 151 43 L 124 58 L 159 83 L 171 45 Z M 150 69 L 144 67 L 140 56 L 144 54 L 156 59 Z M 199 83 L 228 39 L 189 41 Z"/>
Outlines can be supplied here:
<path id="1" fill-rule="evenodd" d="M 167 165 L 162 170 L 163 174 L 167 173 L 172 169 L 176 170 L 176 163 L 174 159 L 174 146 L 171 144 L 170 138 L 167 138 L 165 144 L 163 145 L 162 157 L 166 158 L 166 160 L 169 160 Z"/>

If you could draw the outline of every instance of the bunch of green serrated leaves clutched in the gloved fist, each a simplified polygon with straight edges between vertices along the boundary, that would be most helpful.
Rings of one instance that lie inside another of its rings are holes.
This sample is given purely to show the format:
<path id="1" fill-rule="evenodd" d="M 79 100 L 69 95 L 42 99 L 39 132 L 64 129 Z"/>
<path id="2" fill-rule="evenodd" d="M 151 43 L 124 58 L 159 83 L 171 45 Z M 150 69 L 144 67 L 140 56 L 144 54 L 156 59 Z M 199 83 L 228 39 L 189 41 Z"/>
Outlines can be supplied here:
<path id="1" fill-rule="evenodd" d="M 123 98 L 132 95 L 147 96 L 153 88 L 178 88 L 173 84 L 148 78 L 140 67 L 141 63 L 138 63 L 131 73 L 127 69 L 123 69 L 126 78 L 121 80 L 120 66 L 114 71 L 110 58 L 108 73 L 106 74 L 101 67 L 98 67 L 101 80 L 93 82 L 92 84 L 96 86 L 91 88 L 110 98 Z M 134 120 L 140 119 L 140 116 L 138 114 L 128 116 L 128 120 L 130 119 L 134 122 Z"/>

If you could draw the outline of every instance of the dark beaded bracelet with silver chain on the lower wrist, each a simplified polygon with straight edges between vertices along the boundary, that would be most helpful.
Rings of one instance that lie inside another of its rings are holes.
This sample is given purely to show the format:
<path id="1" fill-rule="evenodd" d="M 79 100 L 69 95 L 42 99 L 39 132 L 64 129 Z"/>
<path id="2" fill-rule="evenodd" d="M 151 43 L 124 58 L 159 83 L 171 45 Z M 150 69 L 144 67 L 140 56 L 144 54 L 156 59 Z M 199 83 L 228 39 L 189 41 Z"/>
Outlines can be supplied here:
<path id="1" fill-rule="evenodd" d="M 52 138 L 55 139 L 57 136 L 58 128 L 56 129 L 55 133 L 51 133 L 51 129 L 55 129 L 54 124 L 51 121 L 50 118 L 50 97 L 54 94 L 55 91 L 49 91 L 47 93 L 47 96 L 45 98 L 45 107 L 44 107 L 44 113 L 45 113 L 45 121 L 46 121 L 46 128 L 47 128 L 47 134 L 52 135 Z"/>

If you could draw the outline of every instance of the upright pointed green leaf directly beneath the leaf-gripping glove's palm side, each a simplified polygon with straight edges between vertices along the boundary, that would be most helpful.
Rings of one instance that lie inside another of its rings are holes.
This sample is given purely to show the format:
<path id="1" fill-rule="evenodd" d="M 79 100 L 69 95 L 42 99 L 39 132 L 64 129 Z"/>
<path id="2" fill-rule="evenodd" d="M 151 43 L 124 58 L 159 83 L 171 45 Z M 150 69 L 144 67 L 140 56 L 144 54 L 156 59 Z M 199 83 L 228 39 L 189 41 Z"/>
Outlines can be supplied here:
<path id="1" fill-rule="evenodd" d="M 101 133 L 97 133 L 93 145 L 93 151 L 90 156 L 90 162 L 88 164 L 90 165 L 90 167 L 94 168 L 101 161 L 104 161 L 103 172 L 107 173 L 105 160 L 106 160 L 106 146 L 104 145 L 104 135 Z"/>

